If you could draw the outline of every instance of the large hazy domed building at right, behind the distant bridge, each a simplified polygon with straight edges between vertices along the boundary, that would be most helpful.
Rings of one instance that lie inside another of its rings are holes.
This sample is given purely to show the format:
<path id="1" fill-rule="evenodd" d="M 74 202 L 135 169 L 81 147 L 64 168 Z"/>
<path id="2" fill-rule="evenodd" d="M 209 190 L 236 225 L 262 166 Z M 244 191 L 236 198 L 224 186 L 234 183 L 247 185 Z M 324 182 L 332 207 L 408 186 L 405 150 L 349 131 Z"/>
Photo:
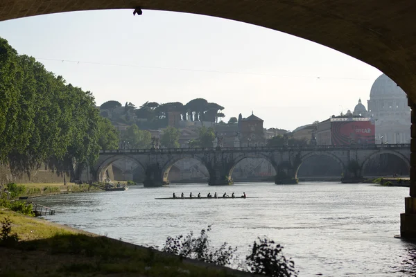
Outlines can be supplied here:
<path id="1" fill-rule="evenodd" d="M 368 111 L 358 100 L 354 114 L 374 117 L 376 143 L 410 143 L 410 107 L 406 93 L 387 75 L 382 74 L 372 85 Z"/>

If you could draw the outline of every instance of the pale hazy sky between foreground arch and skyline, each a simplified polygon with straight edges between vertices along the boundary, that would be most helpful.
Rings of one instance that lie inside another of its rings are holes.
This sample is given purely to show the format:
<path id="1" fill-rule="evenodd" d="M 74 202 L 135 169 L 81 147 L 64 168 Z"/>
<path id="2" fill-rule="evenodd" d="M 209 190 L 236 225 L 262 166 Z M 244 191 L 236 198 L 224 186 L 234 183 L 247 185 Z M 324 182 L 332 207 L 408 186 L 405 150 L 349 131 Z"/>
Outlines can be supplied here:
<path id="1" fill-rule="evenodd" d="M 313 42 L 238 21 L 101 10 L 0 22 L 0 37 L 68 83 L 107 100 L 184 104 L 205 98 L 293 130 L 354 109 L 378 69 Z"/>

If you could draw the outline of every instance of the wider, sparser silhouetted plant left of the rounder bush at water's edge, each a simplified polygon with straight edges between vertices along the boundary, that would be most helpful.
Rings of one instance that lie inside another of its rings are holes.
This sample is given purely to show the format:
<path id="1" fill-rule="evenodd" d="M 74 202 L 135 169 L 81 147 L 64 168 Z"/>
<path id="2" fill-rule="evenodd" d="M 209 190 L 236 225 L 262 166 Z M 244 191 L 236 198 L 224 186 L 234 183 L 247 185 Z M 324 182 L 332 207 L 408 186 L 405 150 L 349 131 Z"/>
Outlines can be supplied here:
<path id="1" fill-rule="evenodd" d="M 216 265 L 230 265 L 237 248 L 233 249 L 227 242 L 224 242 L 219 249 L 209 247 L 209 231 L 211 231 L 211 226 L 208 226 L 207 230 L 202 229 L 198 238 L 193 237 L 193 232 L 190 232 L 186 237 L 183 235 L 178 235 L 175 238 L 168 237 L 162 251 Z"/>

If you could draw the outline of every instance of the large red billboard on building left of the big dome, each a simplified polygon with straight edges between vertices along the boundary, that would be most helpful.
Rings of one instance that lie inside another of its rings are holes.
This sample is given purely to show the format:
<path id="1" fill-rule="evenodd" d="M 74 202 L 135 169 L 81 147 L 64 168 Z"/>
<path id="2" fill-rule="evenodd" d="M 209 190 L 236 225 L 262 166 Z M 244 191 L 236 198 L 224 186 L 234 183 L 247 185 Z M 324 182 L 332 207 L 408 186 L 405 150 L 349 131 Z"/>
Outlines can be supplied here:
<path id="1" fill-rule="evenodd" d="M 374 118 L 331 118 L 332 145 L 376 143 Z"/>

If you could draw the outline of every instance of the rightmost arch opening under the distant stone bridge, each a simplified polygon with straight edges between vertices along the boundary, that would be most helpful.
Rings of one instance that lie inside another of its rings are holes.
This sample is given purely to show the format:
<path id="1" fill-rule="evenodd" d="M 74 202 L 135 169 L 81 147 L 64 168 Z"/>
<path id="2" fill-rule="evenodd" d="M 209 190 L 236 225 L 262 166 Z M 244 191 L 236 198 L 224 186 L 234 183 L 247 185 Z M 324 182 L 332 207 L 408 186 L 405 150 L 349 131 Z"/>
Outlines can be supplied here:
<path id="1" fill-rule="evenodd" d="M 361 166 L 363 177 L 383 177 L 399 175 L 408 177 L 410 161 L 397 152 L 376 152 Z"/>

